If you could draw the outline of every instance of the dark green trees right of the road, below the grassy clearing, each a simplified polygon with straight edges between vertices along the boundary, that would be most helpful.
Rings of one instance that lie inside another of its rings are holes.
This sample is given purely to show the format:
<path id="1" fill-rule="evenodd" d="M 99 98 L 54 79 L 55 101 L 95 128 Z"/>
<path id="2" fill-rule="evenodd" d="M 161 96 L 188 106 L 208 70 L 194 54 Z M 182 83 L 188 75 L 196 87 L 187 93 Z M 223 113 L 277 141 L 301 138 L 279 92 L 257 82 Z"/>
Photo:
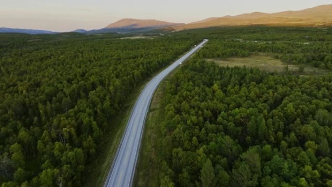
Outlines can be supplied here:
<path id="1" fill-rule="evenodd" d="M 331 75 L 220 68 L 196 58 L 173 75 L 165 98 L 161 139 L 170 144 L 157 153 L 175 186 L 331 185 Z"/>

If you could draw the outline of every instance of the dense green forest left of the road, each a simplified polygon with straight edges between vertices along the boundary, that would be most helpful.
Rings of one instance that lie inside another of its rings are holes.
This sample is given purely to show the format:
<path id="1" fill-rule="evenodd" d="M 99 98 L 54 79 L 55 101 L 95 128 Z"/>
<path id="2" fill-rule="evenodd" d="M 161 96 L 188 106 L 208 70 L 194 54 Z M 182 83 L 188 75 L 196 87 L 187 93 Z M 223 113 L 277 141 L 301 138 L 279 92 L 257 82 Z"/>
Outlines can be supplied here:
<path id="1" fill-rule="evenodd" d="M 133 87 L 201 40 L 120 37 L 0 34 L 1 187 L 82 186 Z"/>

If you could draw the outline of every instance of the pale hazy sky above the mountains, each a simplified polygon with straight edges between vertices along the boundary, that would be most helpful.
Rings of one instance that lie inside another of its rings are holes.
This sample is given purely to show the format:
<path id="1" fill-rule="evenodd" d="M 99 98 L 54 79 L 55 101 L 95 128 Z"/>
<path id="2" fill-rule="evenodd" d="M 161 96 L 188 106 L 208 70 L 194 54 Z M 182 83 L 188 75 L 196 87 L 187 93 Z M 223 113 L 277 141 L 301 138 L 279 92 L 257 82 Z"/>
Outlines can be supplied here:
<path id="1" fill-rule="evenodd" d="M 189 23 L 322 4 L 332 0 L 0 0 L 0 27 L 65 32 L 100 29 L 122 18 Z"/>

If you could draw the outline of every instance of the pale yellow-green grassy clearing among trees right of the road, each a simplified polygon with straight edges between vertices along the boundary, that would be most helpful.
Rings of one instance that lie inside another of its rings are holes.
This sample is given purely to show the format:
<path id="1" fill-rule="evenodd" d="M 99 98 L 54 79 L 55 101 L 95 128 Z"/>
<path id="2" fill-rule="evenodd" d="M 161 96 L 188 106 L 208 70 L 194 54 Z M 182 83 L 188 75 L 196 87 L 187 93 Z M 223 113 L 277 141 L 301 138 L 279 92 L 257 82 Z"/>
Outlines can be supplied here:
<path id="1" fill-rule="evenodd" d="M 220 60 L 220 59 L 206 59 L 206 60 L 213 61 L 222 67 L 246 66 L 250 68 L 259 68 L 261 70 L 270 71 L 270 72 L 284 73 L 285 66 L 288 66 L 290 72 L 299 75 L 324 75 L 329 73 L 328 70 L 314 68 L 310 66 L 304 66 L 303 72 L 300 72 L 299 66 L 284 64 L 279 59 L 275 59 L 267 54 L 255 54 L 246 58 L 229 58 L 226 60 Z"/>

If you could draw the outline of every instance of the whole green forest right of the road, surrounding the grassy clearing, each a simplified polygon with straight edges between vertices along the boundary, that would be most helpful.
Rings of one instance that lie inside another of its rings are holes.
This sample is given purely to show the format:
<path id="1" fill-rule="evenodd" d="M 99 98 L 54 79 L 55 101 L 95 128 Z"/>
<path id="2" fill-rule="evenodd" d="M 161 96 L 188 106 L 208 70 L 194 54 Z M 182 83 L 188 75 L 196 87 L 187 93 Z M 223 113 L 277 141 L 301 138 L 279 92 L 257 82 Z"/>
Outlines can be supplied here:
<path id="1" fill-rule="evenodd" d="M 331 73 L 299 76 L 204 60 L 264 52 L 331 69 L 331 30 L 205 32 L 210 41 L 166 81 L 152 146 L 158 186 L 332 187 Z"/>

